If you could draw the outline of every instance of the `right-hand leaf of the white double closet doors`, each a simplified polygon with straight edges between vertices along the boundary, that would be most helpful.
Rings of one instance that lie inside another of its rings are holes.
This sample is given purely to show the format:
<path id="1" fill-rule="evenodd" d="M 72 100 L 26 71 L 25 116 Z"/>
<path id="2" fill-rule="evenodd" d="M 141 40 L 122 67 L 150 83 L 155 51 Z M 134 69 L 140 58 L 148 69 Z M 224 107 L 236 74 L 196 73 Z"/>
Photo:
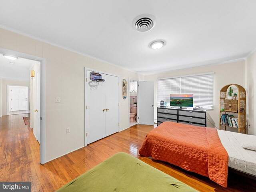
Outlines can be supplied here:
<path id="1" fill-rule="evenodd" d="M 119 121 L 119 78 L 106 75 L 104 86 L 106 87 L 106 136 L 118 132 Z"/>

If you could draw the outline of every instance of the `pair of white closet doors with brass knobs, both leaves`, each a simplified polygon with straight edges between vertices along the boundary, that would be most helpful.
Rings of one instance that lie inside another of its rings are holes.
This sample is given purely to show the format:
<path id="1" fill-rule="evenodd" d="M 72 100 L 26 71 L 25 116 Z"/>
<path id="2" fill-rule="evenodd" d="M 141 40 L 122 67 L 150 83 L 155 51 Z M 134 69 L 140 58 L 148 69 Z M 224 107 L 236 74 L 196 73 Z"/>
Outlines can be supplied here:
<path id="1" fill-rule="evenodd" d="M 119 78 L 100 73 L 104 82 L 90 80 L 86 71 L 86 144 L 118 132 Z"/>

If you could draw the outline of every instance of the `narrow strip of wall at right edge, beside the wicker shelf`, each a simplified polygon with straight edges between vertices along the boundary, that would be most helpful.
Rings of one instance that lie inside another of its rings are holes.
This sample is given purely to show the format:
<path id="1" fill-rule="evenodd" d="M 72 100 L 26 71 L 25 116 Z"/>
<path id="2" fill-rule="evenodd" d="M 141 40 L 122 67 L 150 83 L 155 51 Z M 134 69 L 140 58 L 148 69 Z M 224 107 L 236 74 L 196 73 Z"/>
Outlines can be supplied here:
<path id="1" fill-rule="evenodd" d="M 245 62 L 247 118 L 250 124 L 249 134 L 256 135 L 256 52 L 248 56 Z"/>

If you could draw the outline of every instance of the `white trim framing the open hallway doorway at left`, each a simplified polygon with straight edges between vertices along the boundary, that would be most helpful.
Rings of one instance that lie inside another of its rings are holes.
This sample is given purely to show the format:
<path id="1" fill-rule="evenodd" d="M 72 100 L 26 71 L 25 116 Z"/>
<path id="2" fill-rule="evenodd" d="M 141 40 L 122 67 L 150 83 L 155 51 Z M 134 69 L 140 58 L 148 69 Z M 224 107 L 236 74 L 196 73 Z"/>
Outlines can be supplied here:
<path id="1" fill-rule="evenodd" d="M 40 164 L 46 163 L 46 70 L 45 58 L 0 48 L 0 53 L 40 62 Z"/>

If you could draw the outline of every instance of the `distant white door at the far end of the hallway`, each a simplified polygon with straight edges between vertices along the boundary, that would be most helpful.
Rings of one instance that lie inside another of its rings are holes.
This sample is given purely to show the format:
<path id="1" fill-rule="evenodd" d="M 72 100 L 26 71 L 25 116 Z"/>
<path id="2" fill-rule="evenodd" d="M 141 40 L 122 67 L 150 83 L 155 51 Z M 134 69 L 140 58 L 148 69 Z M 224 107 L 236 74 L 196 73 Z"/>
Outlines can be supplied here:
<path id="1" fill-rule="evenodd" d="M 10 111 L 28 110 L 28 87 L 10 86 Z"/>

